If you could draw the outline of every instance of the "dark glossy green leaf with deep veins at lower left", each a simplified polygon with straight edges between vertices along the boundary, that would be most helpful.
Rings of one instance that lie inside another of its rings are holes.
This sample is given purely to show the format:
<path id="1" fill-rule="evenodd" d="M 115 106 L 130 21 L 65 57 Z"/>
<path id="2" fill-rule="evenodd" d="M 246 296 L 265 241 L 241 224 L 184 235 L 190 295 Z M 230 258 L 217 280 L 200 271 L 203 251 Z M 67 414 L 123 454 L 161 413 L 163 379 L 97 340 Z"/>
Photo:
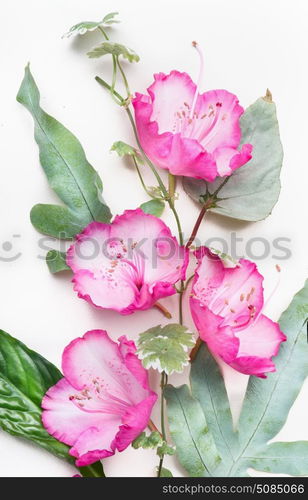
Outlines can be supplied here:
<path id="1" fill-rule="evenodd" d="M 41 421 L 42 398 L 62 377 L 47 359 L 0 330 L 0 427 L 74 464 L 69 447 L 50 436 Z M 79 470 L 84 477 L 104 476 L 100 462 Z"/>

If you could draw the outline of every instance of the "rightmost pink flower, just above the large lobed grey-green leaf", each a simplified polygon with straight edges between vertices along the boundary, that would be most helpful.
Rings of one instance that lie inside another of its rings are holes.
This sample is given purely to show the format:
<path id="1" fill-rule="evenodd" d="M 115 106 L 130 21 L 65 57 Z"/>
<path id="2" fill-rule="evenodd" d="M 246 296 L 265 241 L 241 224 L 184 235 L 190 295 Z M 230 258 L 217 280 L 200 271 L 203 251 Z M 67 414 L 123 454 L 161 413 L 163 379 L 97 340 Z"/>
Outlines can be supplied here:
<path id="1" fill-rule="evenodd" d="M 225 268 L 205 247 L 195 255 L 190 308 L 200 338 L 235 370 L 266 378 L 265 372 L 275 371 L 272 357 L 286 336 L 262 314 L 263 277 L 249 260 Z"/>

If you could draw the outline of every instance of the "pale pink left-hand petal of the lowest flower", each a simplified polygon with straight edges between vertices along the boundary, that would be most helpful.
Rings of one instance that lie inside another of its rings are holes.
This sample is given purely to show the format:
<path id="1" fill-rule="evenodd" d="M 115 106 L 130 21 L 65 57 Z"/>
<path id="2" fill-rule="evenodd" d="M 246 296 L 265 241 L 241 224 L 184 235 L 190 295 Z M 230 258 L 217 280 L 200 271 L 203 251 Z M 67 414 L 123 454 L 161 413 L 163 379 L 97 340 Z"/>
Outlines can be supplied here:
<path id="1" fill-rule="evenodd" d="M 70 398 L 75 393 L 76 388 L 63 378 L 47 391 L 42 401 L 45 429 L 68 445 L 73 445 L 87 427 L 102 423 L 101 414 L 83 412 L 74 405 Z"/>

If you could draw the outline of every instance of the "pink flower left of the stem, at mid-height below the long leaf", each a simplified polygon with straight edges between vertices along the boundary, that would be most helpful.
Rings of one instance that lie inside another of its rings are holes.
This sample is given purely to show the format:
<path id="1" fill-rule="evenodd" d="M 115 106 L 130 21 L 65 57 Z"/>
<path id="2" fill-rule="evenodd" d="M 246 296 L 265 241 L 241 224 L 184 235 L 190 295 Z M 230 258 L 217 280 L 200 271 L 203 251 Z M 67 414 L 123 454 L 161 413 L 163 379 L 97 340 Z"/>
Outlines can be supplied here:
<path id="1" fill-rule="evenodd" d="M 78 296 L 121 314 L 176 293 L 187 262 L 166 224 L 141 209 L 126 210 L 111 224 L 89 224 L 67 253 Z"/>

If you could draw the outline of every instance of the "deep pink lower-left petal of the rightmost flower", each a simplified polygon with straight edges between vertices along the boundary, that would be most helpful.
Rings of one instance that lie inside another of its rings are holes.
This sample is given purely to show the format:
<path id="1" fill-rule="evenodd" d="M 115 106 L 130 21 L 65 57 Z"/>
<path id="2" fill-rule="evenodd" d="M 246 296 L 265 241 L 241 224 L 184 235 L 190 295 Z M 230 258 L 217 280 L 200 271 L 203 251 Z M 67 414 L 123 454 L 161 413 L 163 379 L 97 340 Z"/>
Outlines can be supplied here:
<path id="1" fill-rule="evenodd" d="M 220 356 L 226 363 L 234 361 L 240 343 L 232 328 L 227 326 L 221 328 L 222 318 L 195 298 L 191 298 L 190 310 L 200 338 L 207 343 L 210 351 Z"/>

